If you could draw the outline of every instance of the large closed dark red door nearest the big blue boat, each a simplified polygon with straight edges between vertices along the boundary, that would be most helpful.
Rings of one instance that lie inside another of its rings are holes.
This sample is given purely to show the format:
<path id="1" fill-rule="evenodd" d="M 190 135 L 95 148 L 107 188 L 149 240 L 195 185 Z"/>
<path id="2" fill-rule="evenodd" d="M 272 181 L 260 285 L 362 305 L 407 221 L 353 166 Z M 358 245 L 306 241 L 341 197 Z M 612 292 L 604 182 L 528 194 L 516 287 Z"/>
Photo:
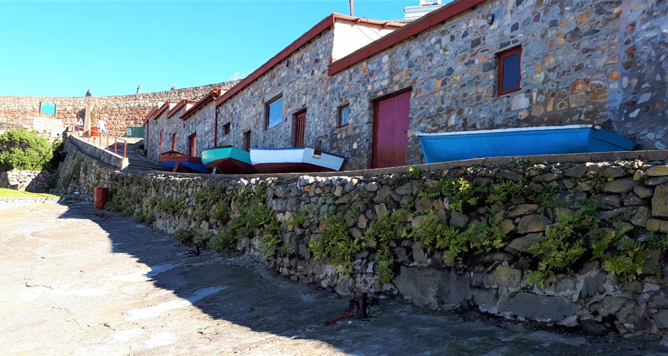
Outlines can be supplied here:
<path id="1" fill-rule="evenodd" d="M 406 165 L 410 108 L 410 91 L 375 102 L 372 168 Z"/>

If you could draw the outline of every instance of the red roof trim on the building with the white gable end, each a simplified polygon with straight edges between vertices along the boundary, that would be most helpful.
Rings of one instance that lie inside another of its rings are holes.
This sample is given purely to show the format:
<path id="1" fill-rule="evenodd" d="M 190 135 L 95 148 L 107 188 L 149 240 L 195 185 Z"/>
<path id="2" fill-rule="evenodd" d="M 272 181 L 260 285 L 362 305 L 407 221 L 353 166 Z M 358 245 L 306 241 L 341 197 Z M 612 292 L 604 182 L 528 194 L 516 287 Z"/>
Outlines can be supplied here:
<path id="1" fill-rule="evenodd" d="M 396 27 L 396 28 L 401 28 L 404 26 L 404 23 L 394 23 L 394 22 L 387 22 L 387 21 L 377 21 L 377 20 L 369 20 L 367 18 L 359 18 L 359 17 L 352 17 L 352 16 L 345 16 L 341 15 L 340 13 L 332 13 L 330 16 L 327 16 L 323 19 L 323 21 L 320 21 L 316 26 L 313 26 L 311 30 L 308 30 L 306 33 L 301 35 L 300 38 L 297 38 L 293 43 L 291 43 L 288 47 L 284 48 L 284 50 L 281 50 L 277 55 L 274 57 L 271 57 L 271 60 L 268 62 L 264 63 L 262 67 L 259 67 L 258 69 L 255 69 L 254 72 L 252 72 L 248 77 L 245 77 L 242 79 L 241 82 L 239 82 L 237 85 L 232 87 L 229 91 L 227 91 L 225 94 L 222 94 L 220 98 L 216 100 L 216 106 L 220 106 L 220 104 L 224 103 L 227 101 L 227 99 L 230 99 L 232 96 L 237 94 L 239 91 L 247 87 L 249 84 L 254 82 L 256 79 L 259 77 L 262 77 L 266 72 L 269 72 L 269 70 L 274 67 L 275 65 L 278 65 L 280 62 L 285 60 L 287 57 L 289 57 L 291 54 L 299 50 L 301 46 L 306 45 L 307 43 L 311 42 L 313 38 L 316 38 L 317 35 L 320 35 L 320 33 L 323 33 L 323 31 L 328 30 L 331 28 L 331 26 L 334 25 L 336 20 L 343 20 L 343 21 L 350 21 L 352 23 L 371 23 L 373 25 L 380 25 L 380 26 L 385 26 L 385 27 Z M 387 24 L 387 25 L 386 25 Z"/>

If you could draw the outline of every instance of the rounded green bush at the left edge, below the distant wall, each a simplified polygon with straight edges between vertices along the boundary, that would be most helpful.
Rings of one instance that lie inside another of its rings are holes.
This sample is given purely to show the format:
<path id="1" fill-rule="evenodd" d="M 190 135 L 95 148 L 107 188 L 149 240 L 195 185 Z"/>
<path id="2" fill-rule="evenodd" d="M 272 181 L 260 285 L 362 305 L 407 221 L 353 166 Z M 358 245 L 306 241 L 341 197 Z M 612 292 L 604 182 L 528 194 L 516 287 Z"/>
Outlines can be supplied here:
<path id="1" fill-rule="evenodd" d="M 46 138 L 23 128 L 9 130 L 0 135 L 0 169 L 41 170 L 51 158 L 53 151 Z"/>

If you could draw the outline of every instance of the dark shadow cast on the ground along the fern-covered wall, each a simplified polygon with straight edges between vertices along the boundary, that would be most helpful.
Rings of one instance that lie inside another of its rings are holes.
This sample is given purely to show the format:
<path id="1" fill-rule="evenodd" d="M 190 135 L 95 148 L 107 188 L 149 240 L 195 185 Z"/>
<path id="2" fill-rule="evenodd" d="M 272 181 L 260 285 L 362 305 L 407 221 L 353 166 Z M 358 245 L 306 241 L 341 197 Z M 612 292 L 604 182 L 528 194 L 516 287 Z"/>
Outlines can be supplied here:
<path id="1" fill-rule="evenodd" d="M 131 255 L 151 267 L 117 277 L 118 280 L 150 278 L 158 289 L 178 296 L 171 301 L 147 300 L 147 307 L 126 311 L 126 321 L 158 318 L 191 303 L 214 321 L 243 327 L 237 330 L 239 335 L 208 335 L 212 343 L 220 343 L 220 350 L 227 350 L 224 354 L 253 353 L 254 347 L 260 347 L 265 351 L 259 354 L 266 355 L 332 355 L 330 347 L 335 347 L 360 356 L 668 355 L 658 345 L 619 338 L 585 338 L 498 320 L 463 321 L 400 299 L 382 299 L 372 307 L 370 321 L 345 319 L 335 326 L 325 326 L 328 318 L 343 313 L 348 299 L 313 285 L 293 283 L 239 255 L 208 251 L 200 256 L 184 255 L 188 248 L 175 245 L 165 233 L 118 213 L 96 211 L 92 204 L 72 204 L 60 218 L 97 223 L 109 234 L 112 252 Z M 290 340 L 318 340 L 330 347 L 308 345 L 304 347 L 311 348 L 286 351 L 281 349 L 285 345 L 268 341 L 271 338 L 267 334 Z"/>

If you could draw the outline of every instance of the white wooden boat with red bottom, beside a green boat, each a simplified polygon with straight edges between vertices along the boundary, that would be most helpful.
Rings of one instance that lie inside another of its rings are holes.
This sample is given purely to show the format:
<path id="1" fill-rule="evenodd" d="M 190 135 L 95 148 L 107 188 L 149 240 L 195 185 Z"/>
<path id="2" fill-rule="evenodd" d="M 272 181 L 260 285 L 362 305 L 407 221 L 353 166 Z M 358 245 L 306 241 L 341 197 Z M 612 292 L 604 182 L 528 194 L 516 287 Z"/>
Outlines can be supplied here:
<path id="1" fill-rule="evenodd" d="M 251 148 L 250 159 L 260 173 L 335 172 L 345 157 L 313 148 Z"/>

